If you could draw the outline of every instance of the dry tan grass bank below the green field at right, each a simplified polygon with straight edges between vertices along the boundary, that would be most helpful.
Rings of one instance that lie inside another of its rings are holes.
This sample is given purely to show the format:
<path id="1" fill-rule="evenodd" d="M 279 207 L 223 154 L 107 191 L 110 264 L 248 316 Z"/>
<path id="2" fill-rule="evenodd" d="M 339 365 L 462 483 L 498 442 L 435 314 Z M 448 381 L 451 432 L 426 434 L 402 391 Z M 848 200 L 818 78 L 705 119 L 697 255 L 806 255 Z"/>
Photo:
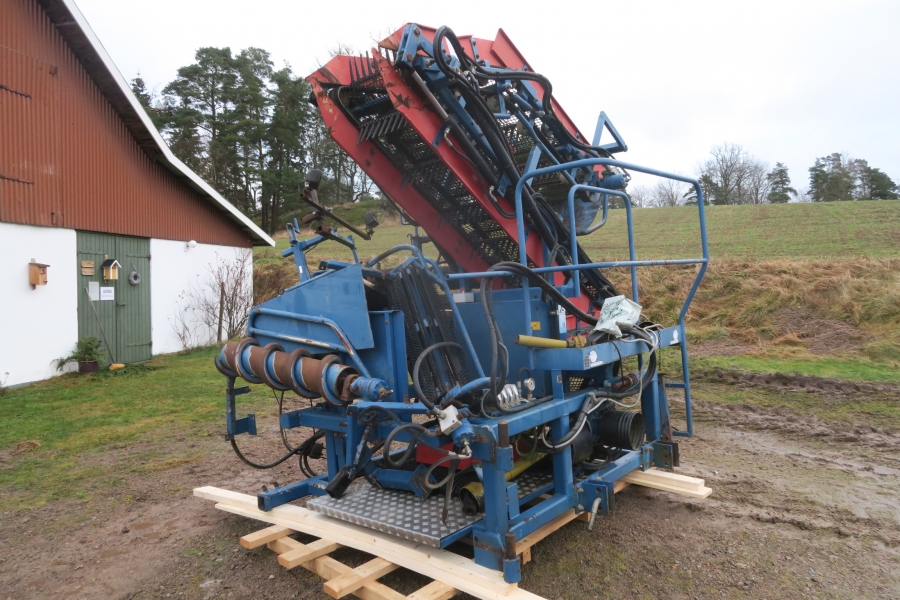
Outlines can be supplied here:
<path id="1" fill-rule="evenodd" d="M 644 313 L 662 323 L 677 322 L 696 274 L 695 265 L 639 269 Z M 620 290 L 631 289 L 627 270 L 608 275 Z M 787 333 L 779 330 L 775 317 L 789 308 L 894 337 L 900 325 L 900 259 L 714 260 L 687 321 L 701 331 L 726 328 L 731 337 L 755 343 Z M 873 352 L 890 350 L 879 347 Z"/>

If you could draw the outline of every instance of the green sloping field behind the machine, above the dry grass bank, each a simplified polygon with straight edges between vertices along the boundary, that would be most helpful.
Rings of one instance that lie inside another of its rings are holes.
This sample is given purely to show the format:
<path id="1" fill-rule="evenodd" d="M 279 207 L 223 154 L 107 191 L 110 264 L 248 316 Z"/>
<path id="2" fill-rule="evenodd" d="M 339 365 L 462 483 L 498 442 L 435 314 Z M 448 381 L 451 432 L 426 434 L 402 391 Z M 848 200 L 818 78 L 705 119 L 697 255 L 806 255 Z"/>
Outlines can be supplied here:
<path id="1" fill-rule="evenodd" d="M 339 206 L 335 212 L 361 223 L 358 205 Z M 900 257 L 900 201 L 829 202 L 761 206 L 710 206 L 706 209 L 710 255 L 717 260 L 844 259 Z M 700 256 L 700 235 L 695 207 L 634 211 L 638 258 L 668 259 Z M 361 256 L 375 256 L 396 244 L 408 243 L 412 227 L 379 227 L 374 239 L 358 244 Z M 610 211 L 607 224 L 581 238 L 595 260 L 628 258 L 624 210 Z M 257 248 L 258 258 L 276 258 L 279 252 Z M 312 257 L 349 258 L 338 244 L 323 244 Z"/>

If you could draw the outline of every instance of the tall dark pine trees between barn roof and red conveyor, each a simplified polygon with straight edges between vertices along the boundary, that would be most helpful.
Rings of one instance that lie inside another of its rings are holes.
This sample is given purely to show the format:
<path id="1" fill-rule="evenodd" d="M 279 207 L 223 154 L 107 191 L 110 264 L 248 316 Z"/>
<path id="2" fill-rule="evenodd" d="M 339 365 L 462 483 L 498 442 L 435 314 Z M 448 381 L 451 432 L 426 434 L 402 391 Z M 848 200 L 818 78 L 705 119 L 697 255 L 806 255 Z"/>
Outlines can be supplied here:
<path id="1" fill-rule="evenodd" d="M 268 233 L 301 209 L 310 168 L 328 204 L 375 197 L 376 187 L 328 135 L 311 89 L 260 48 L 200 48 L 159 93 L 138 75 L 132 90 L 172 152 Z"/>

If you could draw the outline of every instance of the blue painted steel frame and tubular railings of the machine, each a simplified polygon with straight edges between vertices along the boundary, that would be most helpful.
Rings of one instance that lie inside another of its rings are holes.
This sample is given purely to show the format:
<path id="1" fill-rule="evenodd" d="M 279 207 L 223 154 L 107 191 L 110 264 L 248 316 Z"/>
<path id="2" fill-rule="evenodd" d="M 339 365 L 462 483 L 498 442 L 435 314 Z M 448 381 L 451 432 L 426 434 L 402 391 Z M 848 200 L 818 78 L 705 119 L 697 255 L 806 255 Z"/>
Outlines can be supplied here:
<path id="1" fill-rule="evenodd" d="M 702 280 L 709 258 L 705 213 L 703 210 L 703 192 L 699 183 L 686 177 L 671 175 L 653 169 L 602 158 L 586 159 L 574 161 L 572 163 L 558 164 L 543 169 L 534 169 L 526 173 L 525 177 L 522 178 L 522 181 L 516 188 L 516 218 L 520 239 L 524 236 L 525 227 L 521 198 L 524 182 L 533 176 L 593 165 L 610 165 L 627 168 L 632 171 L 648 173 L 659 177 L 669 177 L 692 184 L 698 195 L 703 257 L 698 259 L 679 260 L 637 260 L 632 207 L 627 194 L 616 190 L 595 188 L 596 191 L 599 191 L 604 195 L 609 194 L 619 196 L 625 200 L 630 260 L 588 264 L 578 264 L 576 262 L 575 264 L 566 266 L 555 265 L 538 267 L 535 271 L 538 273 L 563 273 L 573 271 L 573 275 L 577 276 L 578 272 L 584 269 L 627 267 L 631 270 L 632 274 L 632 294 L 634 298 L 637 299 L 636 282 L 638 267 L 650 265 L 700 264 L 701 267 L 697 277 L 679 314 L 678 325 L 663 329 L 659 332 L 659 346 L 661 348 L 674 345 L 680 346 L 684 368 L 684 382 L 681 384 L 672 384 L 668 382 L 663 384 L 658 378 L 654 377 L 651 385 L 641 394 L 641 411 L 646 423 L 646 444 L 640 450 L 623 451 L 609 466 L 592 474 L 579 472 L 576 466 L 572 464 L 572 455 L 570 452 L 555 453 L 552 455 L 553 482 L 536 490 L 528 496 L 519 499 L 516 483 L 506 481 L 506 473 L 513 468 L 513 448 L 511 446 L 502 447 L 499 445 L 501 437 L 499 430 L 501 423 L 503 423 L 503 427 L 506 428 L 509 436 L 515 436 L 533 430 L 536 427 L 549 425 L 552 439 L 559 439 L 569 430 L 570 416 L 579 410 L 585 400 L 586 394 L 590 393 L 590 390 L 566 392 L 562 383 L 564 372 L 571 374 L 573 372 L 586 371 L 600 367 L 606 368 L 610 367 L 616 360 L 651 351 L 651 347 L 643 341 L 615 341 L 587 348 L 526 349 L 528 353 L 528 366 L 535 369 L 536 365 L 541 365 L 542 369 L 549 371 L 550 385 L 552 386 L 554 398 L 550 402 L 514 415 L 508 415 L 501 418 L 469 418 L 475 432 L 475 441 L 472 444 L 472 454 L 474 458 L 481 462 L 482 482 L 485 489 L 486 502 L 485 517 L 481 521 L 456 532 L 454 535 L 442 541 L 442 543 L 446 545 L 459 539 L 461 536 L 472 535 L 475 542 L 476 562 L 484 566 L 502 570 L 504 572 L 504 577 L 510 582 L 518 581 L 521 578 L 519 561 L 510 553 L 510 548 L 514 547 L 517 540 L 538 530 L 543 525 L 571 509 L 575 509 L 576 511 L 592 510 L 594 512 L 606 514 L 614 506 L 613 486 L 620 477 L 638 468 L 648 469 L 653 465 L 664 467 L 673 466 L 672 447 L 665 442 L 664 438 L 664 427 L 669 418 L 665 387 L 683 386 L 685 390 L 687 429 L 686 431 L 675 431 L 674 434 L 686 436 L 693 434 L 690 381 L 687 370 L 687 344 L 684 336 L 684 318 L 691 300 L 696 293 L 697 287 Z M 585 185 L 581 187 L 593 188 L 594 186 Z M 576 191 L 577 189 L 573 188 L 568 196 L 568 212 L 570 216 L 569 227 L 571 228 L 573 239 L 576 234 L 576 223 L 571 216 L 574 212 L 574 196 Z M 608 202 L 605 196 L 603 197 L 603 202 L 604 205 Z M 604 206 L 604 213 L 606 213 L 606 206 Z M 313 241 L 314 240 L 310 240 L 310 242 Z M 316 240 L 315 243 L 318 243 L 318 240 Z M 296 257 L 296 254 L 302 253 L 308 245 L 311 244 L 298 241 L 293 243 L 292 248 L 288 250 L 288 252 L 293 251 L 295 253 L 295 259 L 298 261 L 298 265 L 301 264 L 301 259 Z M 433 260 L 424 257 L 418 247 L 406 245 L 398 246 L 394 250 L 411 252 L 413 256 L 407 263 L 409 261 L 417 261 L 426 266 L 435 283 L 441 286 L 441 289 L 449 300 L 457 331 L 461 333 L 461 341 L 468 357 L 468 362 L 476 375 L 473 381 L 464 386 L 464 389 L 485 387 L 488 378 L 485 377 L 481 362 L 478 360 L 473 340 L 470 337 L 466 326 L 466 320 L 461 315 L 457 304 L 452 300 L 452 292 L 449 289 L 447 281 L 503 277 L 511 276 L 513 273 L 491 271 L 480 273 L 455 273 L 442 276 L 438 265 Z M 573 256 L 576 257 L 577 261 L 577 253 L 573 253 Z M 527 264 L 524 250 L 522 250 L 522 253 L 520 254 L 520 262 Z M 305 265 L 305 260 L 302 264 Z M 341 266 L 340 263 L 334 261 L 329 263 L 329 267 L 331 268 L 339 269 Z M 366 265 L 368 268 L 374 266 L 374 262 Z M 402 266 L 403 265 L 401 265 L 401 267 Z M 401 267 L 398 267 L 398 269 Z M 571 294 L 580 293 L 580 288 L 577 283 L 574 285 L 569 284 L 560 286 L 559 289 Z M 502 298 L 507 299 L 505 301 L 509 301 L 509 298 L 518 295 L 519 293 L 522 295 L 522 301 L 511 305 L 522 311 L 523 318 L 520 321 L 521 330 L 519 333 L 532 335 L 531 302 L 529 301 L 530 292 L 527 281 L 522 282 L 522 289 L 520 292 L 516 290 L 507 290 L 500 295 Z M 258 315 L 265 314 L 300 321 L 309 321 L 329 327 L 337 335 L 341 344 L 327 343 L 319 340 L 294 339 L 275 331 L 260 330 L 255 327 L 256 318 Z M 354 350 L 340 325 L 330 319 L 320 316 L 278 311 L 266 307 L 256 307 L 253 309 L 250 317 L 249 333 L 251 335 L 260 335 L 266 338 L 278 339 L 283 342 L 317 345 L 324 350 L 338 352 L 350 359 L 359 369 L 361 374 L 368 376 L 368 371 L 366 370 L 364 362 L 360 359 L 359 352 Z M 504 332 L 504 335 L 509 334 L 509 331 Z M 455 393 L 462 393 L 464 389 L 457 388 Z M 233 381 L 229 382 L 227 392 L 227 412 L 229 433 L 232 435 L 244 432 L 251 434 L 255 433 L 255 421 L 252 416 L 246 417 L 245 419 L 235 418 L 234 397 L 243 391 L 245 391 L 243 388 L 234 389 Z M 285 413 L 282 416 L 282 425 L 286 428 L 307 426 L 326 430 L 326 444 L 329 448 L 327 455 L 329 465 L 328 473 L 259 494 L 260 508 L 268 510 L 274 506 L 303 496 L 310 494 L 324 494 L 324 488 L 327 485 L 327 482 L 344 468 L 344 466 L 352 462 L 350 458 L 357 454 L 357 448 L 360 446 L 361 440 L 363 439 L 363 428 L 356 424 L 354 417 L 358 411 L 361 411 L 368 406 L 381 406 L 392 410 L 395 414 L 400 415 L 403 421 L 410 420 L 415 414 L 428 413 L 428 409 L 421 403 L 415 402 L 412 404 L 404 404 L 398 402 L 397 399 L 391 402 L 360 401 L 345 410 L 318 406 L 315 408 Z M 391 425 L 382 424 L 376 435 L 383 439 L 390 432 L 391 428 Z M 341 441 L 341 437 L 344 438 L 343 442 Z M 398 440 L 409 441 L 409 438 L 406 436 L 399 436 Z M 424 441 L 429 444 L 440 445 L 449 443 L 450 439 L 441 436 L 436 439 L 426 439 Z M 381 482 L 385 484 L 388 483 L 388 477 L 396 479 L 395 473 L 380 472 L 371 462 L 367 462 L 361 472 L 370 479 L 380 479 Z M 415 486 L 409 483 L 408 480 L 405 481 L 406 483 L 393 481 L 390 487 L 408 489 L 409 491 L 419 493 Z M 550 494 L 550 496 L 537 504 L 531 505 L 532 503 L 537 502 L 539 497 L 544 494 Z"/>

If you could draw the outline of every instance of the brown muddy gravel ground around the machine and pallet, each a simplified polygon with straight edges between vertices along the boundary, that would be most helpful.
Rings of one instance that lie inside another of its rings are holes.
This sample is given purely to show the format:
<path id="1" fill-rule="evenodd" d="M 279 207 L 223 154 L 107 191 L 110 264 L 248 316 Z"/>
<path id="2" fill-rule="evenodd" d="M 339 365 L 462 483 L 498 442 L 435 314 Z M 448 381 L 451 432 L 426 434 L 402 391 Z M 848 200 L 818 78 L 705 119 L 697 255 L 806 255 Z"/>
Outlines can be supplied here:
<path id="1" fill-rule="evenodd" d="M 696 386 L 697 435 L 679 469 L 713 495 L 629 487 L 593 532 L 575 521 L 535 546 L 522 587 L 547 598 L 900 597 L 900 434 L 704 400 L 713 385 Z M 238 545 L 258 522 L 191 496 L 202 485 L 255 493 L 296 467 L 254 471 L 219 437 L 197 443 L 206 458 L 114 495 L 0 515 L 0 600 L 327 598 L 311 573 Z M 402 570 L 382 581 L 406 593 L 426 583 Z"/>

